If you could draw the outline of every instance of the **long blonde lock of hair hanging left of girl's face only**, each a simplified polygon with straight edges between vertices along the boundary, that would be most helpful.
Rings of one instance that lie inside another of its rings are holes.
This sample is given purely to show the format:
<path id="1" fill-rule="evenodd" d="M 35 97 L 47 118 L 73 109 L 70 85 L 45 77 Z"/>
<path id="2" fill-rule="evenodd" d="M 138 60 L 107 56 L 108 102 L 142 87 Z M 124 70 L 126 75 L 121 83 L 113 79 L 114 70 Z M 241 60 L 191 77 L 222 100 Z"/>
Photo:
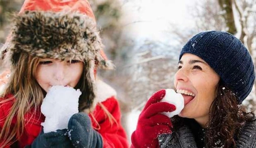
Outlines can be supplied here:
<path id="1" fill-rule="evenodd" d="M 9 82 L 6 84 L 5 91 L 1 94 L 1 97 L 12 94 L 15 98 L 0 132 L 0 141 L 3 146 L 13 144 L 16 135 L 18 138 L 22 135 L 25 126 L 25 113 L 32 107 L 37 109 L 43 100 L 42 89 L 34 78 L 39 58 L 31 57 L 26 53 L 16 53 L 13 55 L 12 62 L 15 66 L 11 67 Z M 6 98 L 0 103 L 11 101 L 13 98 Z M 11 129 L 14 116 L 17 116 L 17 124 Z"/>

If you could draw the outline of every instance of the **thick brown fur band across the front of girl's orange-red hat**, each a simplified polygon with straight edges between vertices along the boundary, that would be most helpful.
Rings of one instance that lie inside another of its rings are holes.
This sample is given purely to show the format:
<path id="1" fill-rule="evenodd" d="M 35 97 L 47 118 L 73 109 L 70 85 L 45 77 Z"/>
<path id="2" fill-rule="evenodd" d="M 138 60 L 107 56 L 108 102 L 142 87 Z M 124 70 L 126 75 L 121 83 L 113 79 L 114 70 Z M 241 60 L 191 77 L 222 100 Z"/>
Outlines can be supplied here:
<path id="1" fill-rule="evenodd" d="M 26 11 L 14 18 L 11 33 L 0 59 L 9 54 L 12 60 L 14 53 L 27 52 L 41 58 L 93 60 L 104 69 L 114 67 L 100 55 L 103 45 L 96 23 L 85 14 Z"/>

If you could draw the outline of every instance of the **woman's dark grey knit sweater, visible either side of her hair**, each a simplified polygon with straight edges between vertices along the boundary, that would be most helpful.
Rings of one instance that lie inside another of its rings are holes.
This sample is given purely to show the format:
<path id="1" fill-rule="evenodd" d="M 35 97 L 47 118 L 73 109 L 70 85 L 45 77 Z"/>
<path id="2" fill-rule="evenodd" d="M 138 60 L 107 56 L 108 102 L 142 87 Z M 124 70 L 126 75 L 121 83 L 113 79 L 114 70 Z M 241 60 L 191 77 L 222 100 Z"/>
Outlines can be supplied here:
<path id="1" fill-rule="evenodd" d="M 161 148 L 197 148 L 194 135 L 187 125 L 172 134 L 160 135 L 158 141 Z M 245 124 L 236 144 L 236 148 L 256 148 L 256 121 Z"/>

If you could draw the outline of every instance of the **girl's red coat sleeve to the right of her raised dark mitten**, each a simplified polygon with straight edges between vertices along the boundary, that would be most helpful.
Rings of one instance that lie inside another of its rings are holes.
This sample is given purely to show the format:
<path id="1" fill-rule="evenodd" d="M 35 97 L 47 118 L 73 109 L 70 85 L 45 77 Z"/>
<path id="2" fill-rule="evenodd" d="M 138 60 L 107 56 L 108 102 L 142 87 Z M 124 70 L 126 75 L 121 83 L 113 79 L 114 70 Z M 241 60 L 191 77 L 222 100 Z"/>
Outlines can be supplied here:
<path id="1" fill-rule="evenodd" d="M 104 148 L 128 148 L 128 141 L 126 133 L 121 125 L 121 112 L 120 107 L 115 99 L 115 97 L 110 97 L 102 102 L 104 107 L 109 111 L 109 113 L 114 117 L 114 120 L 109 120 L 108 116 L 105 114 L 103 109 L 99 106 L 96 106 L 93 111 L 93 115 L 96 118 L 97 123 L 93 120 L 92 116 L 92 125 L 100 133 L 103 139 Z"/>

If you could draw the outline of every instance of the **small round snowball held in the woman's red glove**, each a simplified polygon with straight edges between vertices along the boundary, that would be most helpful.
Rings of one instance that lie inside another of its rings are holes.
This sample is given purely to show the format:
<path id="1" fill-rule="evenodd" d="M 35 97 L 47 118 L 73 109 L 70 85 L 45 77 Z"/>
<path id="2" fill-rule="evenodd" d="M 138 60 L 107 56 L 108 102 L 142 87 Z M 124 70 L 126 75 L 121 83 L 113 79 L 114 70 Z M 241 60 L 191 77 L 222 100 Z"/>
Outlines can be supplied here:
<path id="1" fill-rule="evenodd" d="M 161 99 L 160 102 L 167 102 L 170 104 L 173 104 L 176 106 L 176 110 L 172 112 L 161 112 L 161 114 L 164 114 L 165 116 L 168 116 L 169 118 L 178 115 L 181 110 L 184 108 L 184 98 L 181 94 L 176 93 L 173 89 L 166 89 L 165 90 L 165 96 L 163 99 Z"/>

